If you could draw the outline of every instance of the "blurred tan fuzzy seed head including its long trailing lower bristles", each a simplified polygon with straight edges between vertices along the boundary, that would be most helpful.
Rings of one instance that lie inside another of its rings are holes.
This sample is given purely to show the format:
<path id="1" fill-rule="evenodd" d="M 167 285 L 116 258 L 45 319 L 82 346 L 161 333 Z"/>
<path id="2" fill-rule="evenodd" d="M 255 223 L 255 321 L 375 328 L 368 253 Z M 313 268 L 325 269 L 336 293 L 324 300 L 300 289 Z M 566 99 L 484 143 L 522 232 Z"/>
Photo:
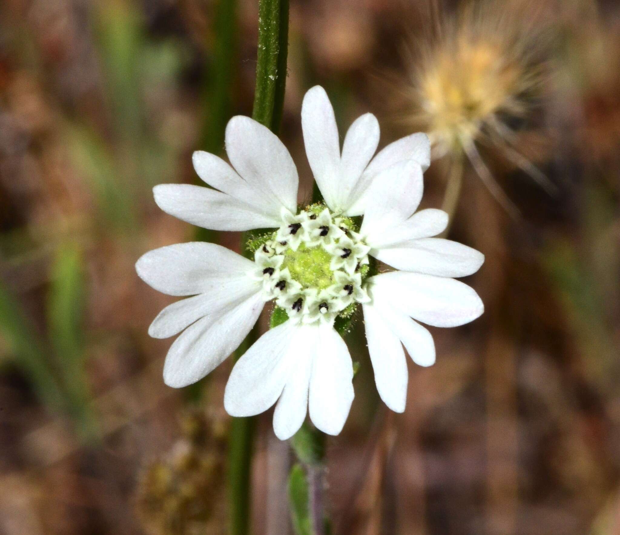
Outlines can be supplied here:
<path id="1" fill-rule="evenodd" d="M 528 173 L 547 191 L 554 186 L 518 152 L 514 125 L 531 119 L 542 94 L 544 32 L 531 22 L 529 4 L 482 1 L 453 19 L 438 21 L 437 35 L 415 45 L 405 88 L 406 122 L 428 132 L 433 156 L 470 161 L 508 212 L 517 214 L 479 153 L 484 145 Z"/>

